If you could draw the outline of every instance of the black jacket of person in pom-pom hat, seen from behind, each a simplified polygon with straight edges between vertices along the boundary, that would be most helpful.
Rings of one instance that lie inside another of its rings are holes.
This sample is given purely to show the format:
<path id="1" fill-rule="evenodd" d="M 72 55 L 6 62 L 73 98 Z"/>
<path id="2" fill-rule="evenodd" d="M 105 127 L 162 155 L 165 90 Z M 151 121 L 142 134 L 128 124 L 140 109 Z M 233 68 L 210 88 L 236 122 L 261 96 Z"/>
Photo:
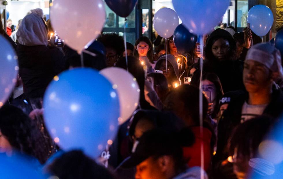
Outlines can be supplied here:
<path id="1" fill-rule="evenodd" d="M 53 77 L 64 70 L 64 55 L 54 46 L 17 47 L 19 74 L 28 98 L 43 97 Z"/>

